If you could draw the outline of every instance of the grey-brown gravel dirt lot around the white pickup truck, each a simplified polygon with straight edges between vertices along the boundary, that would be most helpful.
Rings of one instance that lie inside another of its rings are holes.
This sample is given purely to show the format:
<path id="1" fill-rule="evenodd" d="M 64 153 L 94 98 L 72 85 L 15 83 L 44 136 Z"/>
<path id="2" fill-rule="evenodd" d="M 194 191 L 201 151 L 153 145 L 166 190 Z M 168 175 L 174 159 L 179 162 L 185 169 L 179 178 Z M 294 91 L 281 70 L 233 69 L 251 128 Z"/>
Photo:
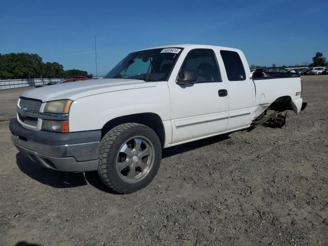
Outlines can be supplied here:
<path id="1" fill-rule="evenodd" d="M 288 128 L 164 151 L 130 195 L 18 154 L 8 119 L 25 88 L 0 91 L 0 244 L 328 245 L 328 75 L 302 79 L 309 106 Z"/>

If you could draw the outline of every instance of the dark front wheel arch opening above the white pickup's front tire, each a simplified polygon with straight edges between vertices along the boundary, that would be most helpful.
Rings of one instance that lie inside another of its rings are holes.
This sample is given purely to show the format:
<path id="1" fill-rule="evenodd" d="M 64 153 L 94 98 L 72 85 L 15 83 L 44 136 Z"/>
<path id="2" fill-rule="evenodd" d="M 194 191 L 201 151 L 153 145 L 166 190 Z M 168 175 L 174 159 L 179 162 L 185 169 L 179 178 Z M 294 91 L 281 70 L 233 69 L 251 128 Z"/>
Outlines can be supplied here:
<path id="1" fill-rule="evenodd" d="M 101 138 L 114 127 L 125 123 L 138 123 L 151 128 L 158 135 L 162 148 L 164 147 L 165 129 L 162 119 L 155 113 L 138 113 L 113 118 L 101 128 Z"/>

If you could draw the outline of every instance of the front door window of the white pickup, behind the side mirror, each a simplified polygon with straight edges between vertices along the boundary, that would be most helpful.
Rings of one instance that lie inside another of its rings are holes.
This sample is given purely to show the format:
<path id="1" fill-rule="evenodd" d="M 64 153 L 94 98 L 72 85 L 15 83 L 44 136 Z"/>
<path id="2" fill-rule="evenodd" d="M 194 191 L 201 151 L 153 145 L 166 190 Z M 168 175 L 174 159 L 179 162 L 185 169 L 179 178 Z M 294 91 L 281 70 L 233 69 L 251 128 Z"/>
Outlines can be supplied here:
<path id="1" fill-rule="evenodd" d="M 183 64 L 182 69 L 192 69 L 197 73 L 197 83 L 221 82 L 219 67 L 213 50 L 194 49 L 191 50 Z"/>

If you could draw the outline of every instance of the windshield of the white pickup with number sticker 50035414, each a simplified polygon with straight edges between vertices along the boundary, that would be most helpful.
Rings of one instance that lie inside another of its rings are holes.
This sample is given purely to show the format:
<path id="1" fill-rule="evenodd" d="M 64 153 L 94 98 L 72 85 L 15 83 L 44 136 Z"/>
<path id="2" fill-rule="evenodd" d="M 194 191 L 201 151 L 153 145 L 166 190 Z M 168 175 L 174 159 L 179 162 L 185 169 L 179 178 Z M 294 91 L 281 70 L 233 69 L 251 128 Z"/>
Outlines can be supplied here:
<path id="1" fill-rule="evenodd" d="M 181 48 L 161 48 L 133 52 L 120 61 L 104 78 L 166 81 Z"/>

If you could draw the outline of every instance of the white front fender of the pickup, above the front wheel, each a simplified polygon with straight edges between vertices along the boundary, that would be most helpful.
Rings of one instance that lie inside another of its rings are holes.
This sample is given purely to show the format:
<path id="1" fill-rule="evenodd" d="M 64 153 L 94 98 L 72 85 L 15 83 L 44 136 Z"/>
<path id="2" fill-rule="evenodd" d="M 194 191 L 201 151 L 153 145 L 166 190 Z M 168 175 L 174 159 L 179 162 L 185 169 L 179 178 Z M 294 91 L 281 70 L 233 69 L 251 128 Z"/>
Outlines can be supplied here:
<path id="1" fill-rule="evenodd" d="M 170 120 L 170 96 L 166 81 L 156 87 L 96 94 L 75 100 L 69 113 L 70 132 L 99 130 L 111 119 L 138 113 L 154 113 Z"/>

